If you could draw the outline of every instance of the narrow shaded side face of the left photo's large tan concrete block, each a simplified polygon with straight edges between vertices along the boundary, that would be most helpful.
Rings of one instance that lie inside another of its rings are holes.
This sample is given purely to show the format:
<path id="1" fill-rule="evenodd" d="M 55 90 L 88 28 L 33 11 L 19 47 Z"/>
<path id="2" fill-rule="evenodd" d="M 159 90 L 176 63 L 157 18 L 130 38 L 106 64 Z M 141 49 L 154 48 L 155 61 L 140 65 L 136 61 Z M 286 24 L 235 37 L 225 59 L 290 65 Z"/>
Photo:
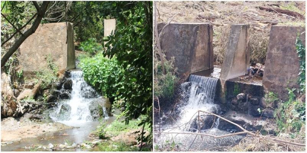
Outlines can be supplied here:
<path id="1" fill-rule="evenodd" d="M 74 30 L 72 23 L 67 23 L 67 70 L 76 69 Z"/>

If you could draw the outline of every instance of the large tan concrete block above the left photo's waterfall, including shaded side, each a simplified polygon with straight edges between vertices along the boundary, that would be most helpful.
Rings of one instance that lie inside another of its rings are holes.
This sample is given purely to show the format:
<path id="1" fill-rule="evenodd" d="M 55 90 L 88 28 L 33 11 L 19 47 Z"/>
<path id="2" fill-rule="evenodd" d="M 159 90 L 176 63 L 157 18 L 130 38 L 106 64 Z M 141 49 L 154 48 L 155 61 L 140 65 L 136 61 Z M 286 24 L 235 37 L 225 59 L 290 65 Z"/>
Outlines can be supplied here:
<path id="1" fill-rule="evenodd" d="M 47 68 L 46 56 L 51 55 L 59 71 L 75 69 L 75 46 L 72 23 L 40 24 L 19 47 L 19 61 L 24 75 Z"/>

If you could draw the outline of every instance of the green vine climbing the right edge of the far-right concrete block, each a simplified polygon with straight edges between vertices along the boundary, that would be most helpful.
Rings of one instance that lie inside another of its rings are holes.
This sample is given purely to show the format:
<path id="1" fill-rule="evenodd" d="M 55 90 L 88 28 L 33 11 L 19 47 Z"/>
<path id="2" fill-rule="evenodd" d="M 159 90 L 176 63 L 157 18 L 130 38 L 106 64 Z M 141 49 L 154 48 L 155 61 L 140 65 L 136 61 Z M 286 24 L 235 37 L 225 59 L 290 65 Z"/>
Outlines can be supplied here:
<path id="1" fill-rule="evenodd" d="M 300 60 L 300 73 L 298 73 L 299 78 L 298 82 L 300 84 L 300 92 L 305 93 L 306 91 L 306 48 L 302 43 L 302 40 L 300 39 L 299 35 L 296 38 L 295 47 L 297 50 L 298 57 L 301 58 Z"/>

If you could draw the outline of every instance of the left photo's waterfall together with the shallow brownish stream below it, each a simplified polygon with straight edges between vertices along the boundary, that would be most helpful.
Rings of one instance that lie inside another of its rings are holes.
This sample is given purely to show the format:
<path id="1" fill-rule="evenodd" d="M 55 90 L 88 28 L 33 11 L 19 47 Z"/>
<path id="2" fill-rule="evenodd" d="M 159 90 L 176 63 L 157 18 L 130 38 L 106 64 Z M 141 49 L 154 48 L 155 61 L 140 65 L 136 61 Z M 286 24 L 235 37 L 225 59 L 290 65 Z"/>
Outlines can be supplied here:
<path id="1" fill-rule="evenodd" d="M 108 117 L 106 107 L 110 108 L 110 103 L 99 96 L 99 94 L 84 81 L 81 70 L 73 70 L 70 75 L 72 79 L 71 98 L 60 100 L 56 107 L 49 110 L 49 114 L 53 121 L 77 128 L 45 133 L 44 136 L 40 136 L 40 138 L 25 138 L 19 143 L 2 146 L 1 151 L 24 151 L 22 147 L 32 144 L 63 144 L 67 140 L 74 143 L 81 143 L 84 140 L 89 140 L 88 135 L 90 132 L 94 131 L 100 124 L 91 114 L 91 110 L 95 109 L 98 104 L 101 105 L 98 109 L 103 110 L 103 123 L 108 125 L 116 119 L 115 117 Z M 63 136 L 63 133 L 65 133 L 65 136 Z M 41 137 L 44 137 L 44 139 L 41 140 Z"/>

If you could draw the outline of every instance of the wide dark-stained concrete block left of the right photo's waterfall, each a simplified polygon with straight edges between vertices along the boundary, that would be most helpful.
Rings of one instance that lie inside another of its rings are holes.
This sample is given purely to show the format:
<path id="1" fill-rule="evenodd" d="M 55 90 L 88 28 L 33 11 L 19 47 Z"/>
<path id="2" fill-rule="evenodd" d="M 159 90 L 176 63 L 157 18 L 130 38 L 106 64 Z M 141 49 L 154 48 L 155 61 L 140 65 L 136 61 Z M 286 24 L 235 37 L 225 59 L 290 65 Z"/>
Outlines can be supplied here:
<path id="1" fill-rule="evenodd" d="M 163 31 L 165 23 L 157 24 L 161 32 L 161 49 L 166 58 L 175 58 L 181 79 L 190 73 L 213 69 L 213 29 L 208 23 L 171 23 Z"/>

